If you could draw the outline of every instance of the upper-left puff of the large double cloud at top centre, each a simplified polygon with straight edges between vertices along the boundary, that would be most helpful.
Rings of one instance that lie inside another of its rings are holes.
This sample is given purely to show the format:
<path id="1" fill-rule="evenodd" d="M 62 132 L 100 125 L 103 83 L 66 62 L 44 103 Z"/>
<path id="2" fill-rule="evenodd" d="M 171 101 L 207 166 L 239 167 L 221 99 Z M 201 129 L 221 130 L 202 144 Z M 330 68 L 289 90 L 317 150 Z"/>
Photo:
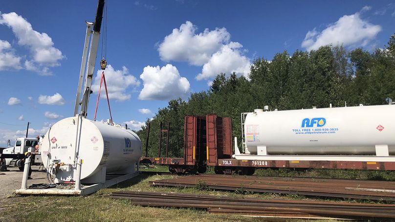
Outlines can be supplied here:
<path id="1" fill-rule="evenodd" d="M 197 27 L 189 21 L 181 24 L 179 29 L 173 29 L 173 32 L 159 44 L 161 60 L 188 62 L 191 65 L 201 66 L 230 39 L 230 34 L 225 28 L 216 28 L 212 31 L 206 28 L 198 34 L 195 34 L 196 30 Z"/>

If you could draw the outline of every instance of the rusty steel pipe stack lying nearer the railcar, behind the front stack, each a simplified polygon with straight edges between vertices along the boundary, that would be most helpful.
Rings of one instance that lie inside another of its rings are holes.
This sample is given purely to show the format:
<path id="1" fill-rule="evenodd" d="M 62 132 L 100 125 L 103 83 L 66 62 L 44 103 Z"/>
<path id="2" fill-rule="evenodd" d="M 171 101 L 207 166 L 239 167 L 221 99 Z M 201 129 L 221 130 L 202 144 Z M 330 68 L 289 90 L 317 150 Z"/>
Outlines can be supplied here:
<path id="1" fill-rule="evenodd" d="M 199 175 L 150 181 L 153 186 L 395 201 L 395 182 L 374 180 Z"/>

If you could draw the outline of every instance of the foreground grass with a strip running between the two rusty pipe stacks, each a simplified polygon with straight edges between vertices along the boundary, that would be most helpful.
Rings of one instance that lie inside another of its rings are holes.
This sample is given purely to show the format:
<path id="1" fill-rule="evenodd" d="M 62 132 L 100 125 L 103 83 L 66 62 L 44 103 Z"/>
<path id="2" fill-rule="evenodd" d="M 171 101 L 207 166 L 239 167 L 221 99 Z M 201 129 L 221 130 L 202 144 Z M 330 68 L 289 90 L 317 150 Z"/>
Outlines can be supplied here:
<path id="1" fill-rule="evenodd" d="M 142 207 L 132 205 L 129 200 L 117 200 L 104 197 L 114 191 L 146 191 L 167 193 L 189 193 L 221 196 L 238 196 L 231 192 L 199 190 L 196 188 L 153 187 L 148 181 L 175 176 L 140 175 L 116 186 L 101 189 L 85 197 L 55 196 L 14 196 L 2 202 L 0 221 L 262 221 L 259 218 L 246 218 L 236 215 L 214 215 L 201 209 L 178 209 Z"/>

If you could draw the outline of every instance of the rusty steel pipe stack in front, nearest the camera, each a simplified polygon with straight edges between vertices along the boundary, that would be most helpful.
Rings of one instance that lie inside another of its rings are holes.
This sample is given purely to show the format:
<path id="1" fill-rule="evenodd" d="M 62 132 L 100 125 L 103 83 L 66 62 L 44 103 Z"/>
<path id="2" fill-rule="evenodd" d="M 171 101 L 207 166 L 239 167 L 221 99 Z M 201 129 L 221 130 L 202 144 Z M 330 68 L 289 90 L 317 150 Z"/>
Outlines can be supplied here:
<path id="1" fill-rule="evenodd" d="M 238 214 L 292 219 L 357 219 L 387 221 L 395 218 L 395 204 L 366 204 L 309 200 L 241 199 L 221 196 L 154 192 L 114 192 L 114 199 L 156 207 L 200 208 L 216 214 Z"/>

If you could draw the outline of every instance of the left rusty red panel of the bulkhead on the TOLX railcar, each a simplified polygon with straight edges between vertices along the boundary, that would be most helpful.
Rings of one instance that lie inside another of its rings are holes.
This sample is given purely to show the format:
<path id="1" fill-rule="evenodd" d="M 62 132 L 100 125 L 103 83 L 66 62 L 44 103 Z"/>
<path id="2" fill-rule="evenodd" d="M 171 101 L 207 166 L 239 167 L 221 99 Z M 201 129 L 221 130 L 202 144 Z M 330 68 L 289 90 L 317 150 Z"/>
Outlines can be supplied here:
<path id="1" fill-rule="evenodd" d="M 217 115 L 206 115 L 206 159 L 207 166 L 217 165 L 217 150 L 220 149 L 217 145 Z"/>

